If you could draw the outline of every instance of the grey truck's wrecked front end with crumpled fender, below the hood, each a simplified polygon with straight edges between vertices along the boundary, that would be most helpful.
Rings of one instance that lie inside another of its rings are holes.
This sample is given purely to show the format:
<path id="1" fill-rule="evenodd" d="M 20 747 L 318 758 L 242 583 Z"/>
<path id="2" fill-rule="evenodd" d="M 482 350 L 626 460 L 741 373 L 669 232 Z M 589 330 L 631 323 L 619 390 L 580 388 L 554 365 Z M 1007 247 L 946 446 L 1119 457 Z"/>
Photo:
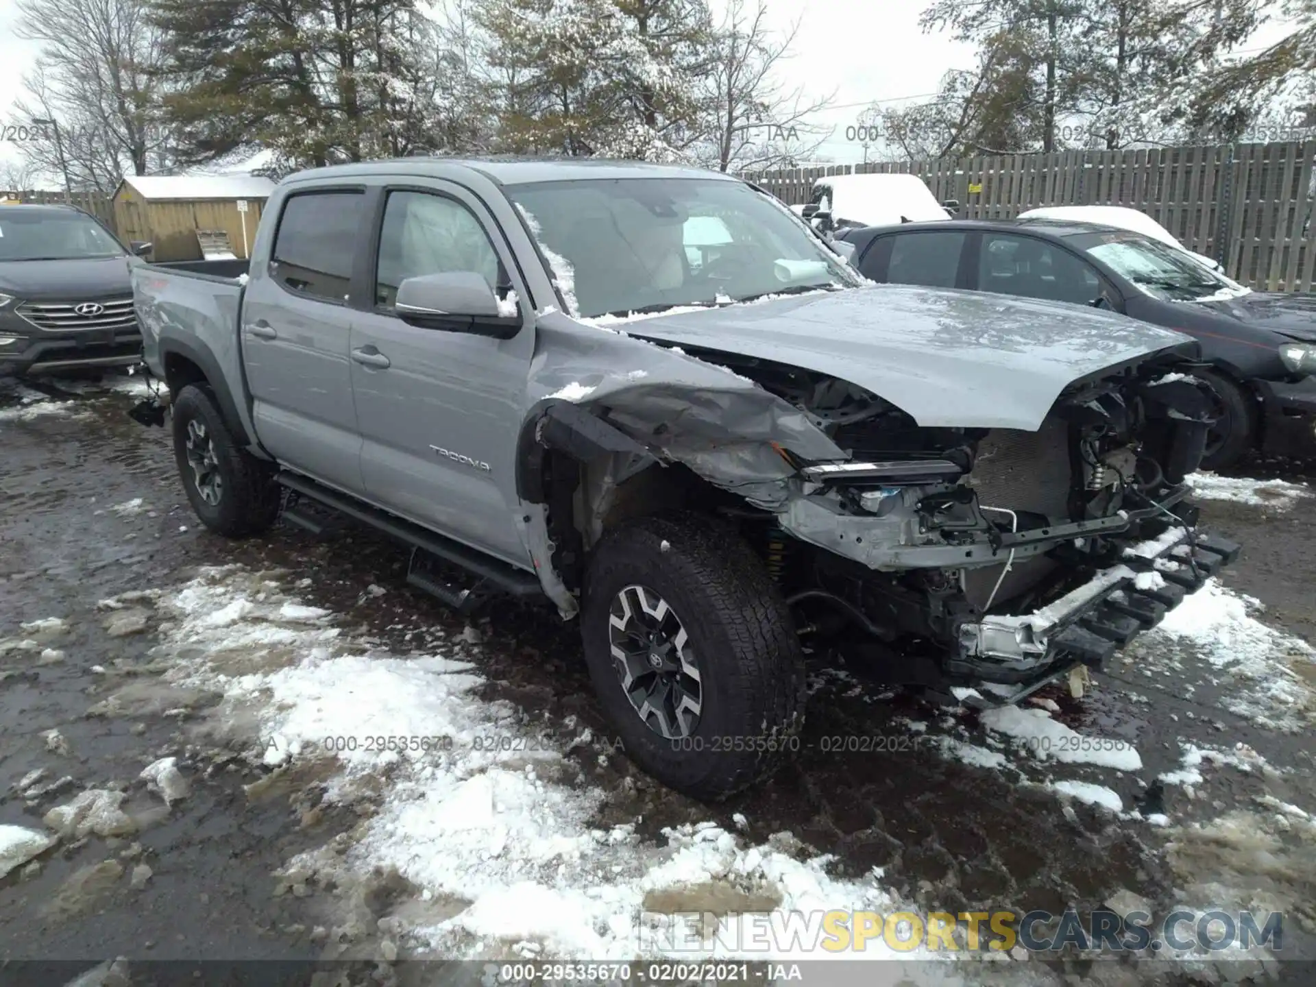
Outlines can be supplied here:
<path id="1" fill-rule="evenodd" d="M 542 329 L 521 520 L 566 616 L 608 528 L 705 511 L 757 546 L 799 633 L 998 705 L 1099 670 L 1238 551 L 1196 526 L 1186 478 L 1217 403 L 1173 340 L 1033 395 L 1019 428 L 924 405 L 920 424 L 855 382 L 874 374 L 625 328 Z"/>

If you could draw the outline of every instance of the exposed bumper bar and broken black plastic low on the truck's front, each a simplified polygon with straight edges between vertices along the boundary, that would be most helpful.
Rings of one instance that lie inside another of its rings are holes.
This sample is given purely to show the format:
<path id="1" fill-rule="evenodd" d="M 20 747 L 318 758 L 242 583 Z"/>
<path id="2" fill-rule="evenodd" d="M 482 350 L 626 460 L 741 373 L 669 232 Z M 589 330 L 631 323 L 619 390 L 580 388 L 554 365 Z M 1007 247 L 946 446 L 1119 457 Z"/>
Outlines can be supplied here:
<path id="1" fill-rule="evenodd" d="M 961 625 L 948 658 L 948 686 L 991 684 L 970 705 L 1007 705 L 1075 666 L 1100 670 L 1120 647 L 1154 628 L 1221 567 L 1238 545 L 1192 529 L 1171 528 L 1128 549 L 1124 561 L 1032 613 L 987 616 Z"/>

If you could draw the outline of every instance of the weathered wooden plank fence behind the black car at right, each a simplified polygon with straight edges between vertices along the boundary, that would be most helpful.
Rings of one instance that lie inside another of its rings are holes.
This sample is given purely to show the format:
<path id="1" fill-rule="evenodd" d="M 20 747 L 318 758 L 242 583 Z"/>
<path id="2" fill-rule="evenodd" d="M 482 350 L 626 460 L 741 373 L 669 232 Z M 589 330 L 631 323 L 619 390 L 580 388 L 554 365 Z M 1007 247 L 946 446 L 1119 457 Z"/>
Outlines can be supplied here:
<path id="1" fill-rule="evenodd" d="M 1316 290 L 1316 141 L 1062 151 L 790 168 L 755 175 L 790 204 L 825 175 L 912 172 L 966 218 L 1041 205 L 1126 205 L 1258 291 Z"/>

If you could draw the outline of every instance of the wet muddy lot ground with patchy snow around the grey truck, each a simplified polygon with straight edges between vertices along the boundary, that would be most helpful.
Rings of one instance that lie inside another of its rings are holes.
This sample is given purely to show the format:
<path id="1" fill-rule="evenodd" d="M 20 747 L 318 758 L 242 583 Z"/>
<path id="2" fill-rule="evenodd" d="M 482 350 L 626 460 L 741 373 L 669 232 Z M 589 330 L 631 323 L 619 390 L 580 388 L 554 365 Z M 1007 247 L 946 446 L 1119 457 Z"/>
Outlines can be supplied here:
<path id="1" fill-rule="evenodd" d="M 800 750 L 709 807 L 632 769 L 554 613 L 463 621 L 361 529 L 200 529 L 167 433 L 126 417 L 141 392 L 0 382 L 3 982 L 497 983 L 663 955 L 655 915 L 1101 907 L 1283 912 L 1283 940 L 667 955 L 815 983 L 1316 976 L 1316 467 L 1200 476 L 1242 557 L 1080 697 L 930 707 L 816 654 Z"/>

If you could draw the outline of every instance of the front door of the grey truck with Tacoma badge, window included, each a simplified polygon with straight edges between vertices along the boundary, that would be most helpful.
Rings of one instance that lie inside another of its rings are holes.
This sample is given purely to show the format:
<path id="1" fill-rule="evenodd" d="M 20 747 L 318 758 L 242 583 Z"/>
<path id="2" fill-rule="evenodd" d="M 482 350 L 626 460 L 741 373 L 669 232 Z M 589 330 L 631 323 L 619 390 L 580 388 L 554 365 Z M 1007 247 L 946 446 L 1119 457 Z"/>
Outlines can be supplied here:
<path id="1" fill-rule="evenodd" d="M 503 234 L 478 197 L 434 180 L 383 188 L 371 243 L 374 304 L 353 313 L 349 347 L 370 500 L 526 566 L 513 517 L 533 325 L 494 340 L 409 325 L 393 308 L 403 279 L 443 271 L 478 272 L 504 304 L 528 297 Z"/>

